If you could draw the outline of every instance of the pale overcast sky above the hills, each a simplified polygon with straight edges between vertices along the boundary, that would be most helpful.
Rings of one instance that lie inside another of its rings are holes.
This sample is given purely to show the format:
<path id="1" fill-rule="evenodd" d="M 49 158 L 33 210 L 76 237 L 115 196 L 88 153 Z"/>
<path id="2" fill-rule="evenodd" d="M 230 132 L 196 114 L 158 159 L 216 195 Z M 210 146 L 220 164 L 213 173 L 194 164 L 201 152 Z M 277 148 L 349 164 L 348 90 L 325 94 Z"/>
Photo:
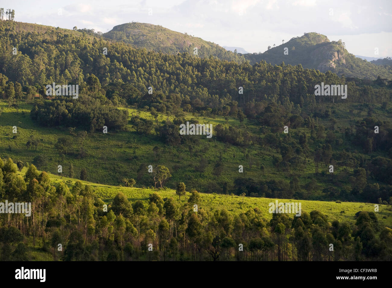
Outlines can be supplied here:
<path id="1" fill-rule="evenodd" d="M 133 20 L 251 53 L 317 32 L 342 39 L 354 55 L 392 56 L 392 0 L 15 0 L 1 6 L 14 9 L 20 22 L 105 33 Z"/>

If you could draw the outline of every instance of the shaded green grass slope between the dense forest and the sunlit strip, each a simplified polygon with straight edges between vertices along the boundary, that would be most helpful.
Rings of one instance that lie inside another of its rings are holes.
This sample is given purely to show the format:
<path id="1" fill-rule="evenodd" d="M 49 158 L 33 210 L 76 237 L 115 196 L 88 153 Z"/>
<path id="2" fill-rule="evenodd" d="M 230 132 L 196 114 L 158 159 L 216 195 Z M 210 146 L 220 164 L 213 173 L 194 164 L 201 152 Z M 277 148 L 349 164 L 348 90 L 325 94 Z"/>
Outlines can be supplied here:
<path id="1" fill-rule="evenodd" d="M 313 191 L 307 191 L 301 199 L 320 200 L 324 195 L 321 192 L 324 188 L 331 185 L 326 176 L 314 174 L 315 163 L 311 157 L 305 158 L 305 165 L 303 169 L 291 171 L 290 173 L 279 171 L 272 164 L 272 157 L 279 155 L 279 151 L 271 149 L 269 146 L 261 147 L 257 144 L 252 144 L 248 147 L 232 146 L 216 140 L 214 137 L 207 139 L 204 135 L 194 135 L 197 141 L 189 149 L 187 145 L 180 145 L 178 147 L 167 146 L 162 140 L 159 140 L 154 130 L 151 135 L 140 135 L 134 131 L 132 125 L 129 123 L 124 131 L 113 132 L 108 134 L 103 133 L 89 133 L 86 137 L 83 147 L 87 151 L 84 158 L 79 158 L 77 153 L 69 153 L 68 155 L 59 155 L 54 145 L 58 138 L 70 135 L 68 129 L 63 128 L 46 128 L 38 126 L 29 117 L 29 112 L 33 108 L 32 104 L 25 104 L 19 102 L 20 109 L 9 108 L 7 103 L 0 101 L 0 151 L 1 157 L 11 157 L 13 160 L 21 160 L 25 163 L 33 163 L 34 157 L 38 155 L 45 155 L 47 163 L 43 167 L 38 167 L 41 170 L 49 171 L 54 174 L 57 173 L 57 166 L 62 165 L 64 176 L 69 176 L 69 166 L 72 163 L 74 167 L 74 175 L 79 178 L 80 171 L 83 168 L 87 170 L 87 180 L 109 184 L 122 184 L 123 178 L 133 178 L 136 180 L 136 186 L 148 187 L 154 186 L 151 174 L 147 172 L 148 165 L 164 165 L 171 171 L 172 177 L 168 179 L 165 186 L 175 188 L 178 182 L 185 182 L 188 189 L 194 188 L 201 192 L 216 192 L 221 193 L 222 186 L 220 184 L 227 182 L 229 191 L 235 190 L 234 179 L 238 177 L 250 177 L 252 179 L 263 180 L 285 180 L 289 182 L 291 177 L 299 178 L 299 184 L 305 184 L 316 180 L 317 186 Z M 336 139 L 344 139 L 344 131 L 347 127 L 354 126 L 357 120 L 363 119 L 367 116 L 368 109 L 362 104 L 340 104 L 327 106 L 326 108 L 333 109 L 333 117 L 336 119 L 336 131 L 334 135 Z M 138 112 L 136 109 L 121 108 L 129 110 L 129 118 L 133 115 L 139 114 L 142 118 L 152 120 L 150 113 L 146 111 Z M 383 111 L 376 107 L 373 111 L 374 117 L 380 120 L 390 121 L 391 115 L 383 113 Z M 173 116 L 160 114 L 158 123 L 161 124 L 163 120 L 173 119 Z M 217 124 L 224 124 L 226 121 L 223 117 L 207 117 L 196 116 L 191 113 L 185 113 L 185 119 L 194 121 L 198 120 L 200 123 L 210 123 L 214 126 Z M 263 133 L 257 129 L 250 121 L 245 120 L 241 125 L 236 118 L 229 118 L 228 124 L 233 127 L 246 129 L 252 135 L 259 135 L 263 137 Z M 328 120 L 319 120 L 325 126 L 329 126 Z M 18 133 L 12 133 L 12 127 L 16 126 Z M 298 130 L 298 131 L 296 131 Z M 298 128 L 292 130 L 295 137 L 298 133 L 309 133 L 306 129 Z M 27 149 L 26 142 L 30 136 L 33 135 L 39 140 L 38 149 Z M 308 135 L 308 139 L 309 139 Z M 309 139 L 309 146 L 312 147 L 312 141 Z M 154 154 L 154 147 L 159 148 L 159 153 Z M 339 149 L 346 149 L 350 151 L 353 149 L 352 144 L 348 141 L 343 141 L 339 144 Z M 78 139 L 73 138 L 73 151 L 78 151 Z M 363 154 L 364 158 L 370 155 Z M 207 159 L 207 168 L 203 173 L 195 171 L 195 166 L 201 161 L 201 158 Z M 223 165 L 221 175 L 214 175 L 216 163 Z M 260 165 L 265 166 L 264 172 L 260 170 Z M 238 166 L 243 165 L 244 172 L 238 172 Z M 320 171 L 327 171 L 327 166 L 319 164 Z M 352 168 L 336 167 L 335 181 L 338 182 L 339 187 L 345 188 L 347 191 L 351 190 L 349 177 L 352 174 Z M 371 180 L 369 180 L 371 181 Z"/>

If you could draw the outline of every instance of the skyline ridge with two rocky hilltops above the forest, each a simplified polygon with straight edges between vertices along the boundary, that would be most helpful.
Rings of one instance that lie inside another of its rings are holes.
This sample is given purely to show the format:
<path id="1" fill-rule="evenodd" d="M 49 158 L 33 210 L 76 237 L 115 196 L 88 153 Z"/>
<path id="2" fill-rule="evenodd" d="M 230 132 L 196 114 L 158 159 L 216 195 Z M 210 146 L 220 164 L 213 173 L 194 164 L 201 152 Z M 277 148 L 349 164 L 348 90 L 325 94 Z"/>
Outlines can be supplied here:
<path id="1" fill-rule="evenodd" d="M 383 60 L 368 62 L 349 53 L 341 40 L 332 41 L 327 36 L 319 33 L 304 33 L 303 36 L 291 38 L 288 42 L 276 47 L 270 47 L 264 53 L 233 53 L 214 42 L 205 41 L 200 37 L 194 37 L 180 32 L 172 31 L 159 25 L 148 23 L 130 22 L 114 26 L 107 33 L 94 33 L 91 29 L 64 29 L 60 27 L 44 26 L 24 22 L 4 21 L 3 29 L 11 29 L 16 32 L 27 31 L 31 33 L 45 33 L 45 31 L 61 31 L 73 35 L 85 35 L 90 40 L 104 38 L 111 42 L 120 41 L 129 44 L 136 49 L 162 52 L 176 55 L 189 53 L 196 57 L 207 58 L 210 56 L 221 60 L 234 61 L 236 63 L 250 62 L 254 65 L 261 60 L 272 65 L 280 65 L 282 62 L 290 65 L 301 64 L 304 68 L 316 69 L 323 73 L 331 71 L 339 76 L 345 75 L 350 78 L 392 79 L 392 67 Z M 227 47 L 227 46 L 226 46 Z M 196 49 L 195 49 L 196 48 Z M 240 47 L 239 47 L 240 48 Z M 284 49 L 286 54 L 284 54 Z M 377 65 L 377 64 L 383 65 Z"/>

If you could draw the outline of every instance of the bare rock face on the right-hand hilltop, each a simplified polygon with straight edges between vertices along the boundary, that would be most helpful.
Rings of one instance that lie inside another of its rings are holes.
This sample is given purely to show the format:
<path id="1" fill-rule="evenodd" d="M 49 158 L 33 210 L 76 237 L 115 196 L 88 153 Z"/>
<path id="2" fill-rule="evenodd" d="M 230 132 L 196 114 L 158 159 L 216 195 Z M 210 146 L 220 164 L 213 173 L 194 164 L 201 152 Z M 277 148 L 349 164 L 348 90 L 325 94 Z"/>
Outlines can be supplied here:
<path id="1" fill-rule="evenodd" d="M 312 51 L 310 58 L 313 62 L 318 63 L 317 69 L 323 73 L 330 69 L 335 69 L 336 61 L 340 61 L 340 64 L 346 64 L 343 50 L 336 49 L 330 43 Z"/>

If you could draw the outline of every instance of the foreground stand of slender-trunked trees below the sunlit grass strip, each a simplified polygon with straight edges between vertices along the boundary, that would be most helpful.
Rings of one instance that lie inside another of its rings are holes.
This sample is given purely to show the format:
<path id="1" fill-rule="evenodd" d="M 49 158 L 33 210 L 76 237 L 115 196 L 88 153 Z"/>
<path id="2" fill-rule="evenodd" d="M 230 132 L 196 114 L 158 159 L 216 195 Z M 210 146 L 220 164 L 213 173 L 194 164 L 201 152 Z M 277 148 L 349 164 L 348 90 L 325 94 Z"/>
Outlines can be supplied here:
<path id="1" fill-rule="evenodd" d="M 9 166 L 12 160 L 7 162 L 3 168 Z M 3 169 L 0 171 L 3 172 Z M 60 182 L 56 189 L 51 186 L 47 173 L 37 176 L 31 165 L 26 177 L 31 179 L 33 175 L 38 181 L 30 180 L 14 199 L 26 199 L 25 191 L 28 201 L 34 203 L 40 199 L 44 203 L 41 209 L 48 217 L 33 210 L 36 221 L 29 221 L 29 230 L 33 230 L 30 233 L 37 238 L 34 238 L 35 241 L 41 240 L 42 235 L 34 231 L 43 225 L 45 239 L 42 239 L 42 252 L 51 253 L 55 261 L 172 261 L 178 257 L 182 260 L 213 261 L 388 261 L 392 256 L 388 248 L 392 241 L 390 229 L 380 225 L 374 212 L 359 211 L 355 215 L 355 225 L 339 221 L 332 221 L 330 225 L 328 215 L 318 210 L 310 213 L 302 211 L 299 217 L 274 213 L 267 221 L 260 208 L 232 215 L 225 209 L 206 213 L 198 205 L 196 212 L 192 207 L 193 203 L 200 202 L 196 190 L 191 192 L 190 205 L 179 205 L 179 201 L 172 198 L 163 202 L 158 193 L 153 193 L 149 197 L 148 208 L 141 200 L 131 205 L 120 192 L 106 212 L 103 211 L 105 202 L 95 195 L 91 186 L 83 186 L 79 181 L 69 189 Z M 5 179 L 7 186 L 9 180 Z M 246 183 L 251 191 L 261 187 L 263 193 L 277 193 L 275 195 L 279 197 L 285 197 L 283 193 L 299 187 L 296 177 L 290 184 L 258 183 L 252 179 L 236 181 L 240 186 Z M 185 184 L 179 183 L 178 191 L 185 191 Z M 54 209 L 48 209 L 51 201 Z M 13 222 L 18 215 L 9 216 Z M 19 228 L 8 227 L 7 218 L 3 220 L 0 258 L 4 261 L 31 260 L 32 247 L 24 244 L 24 236 L 28 233 L 27 219 L 20 222 L 23 233 Z M 69 221 L 74 225 L 68 225 Z M 286 242 L 293 246 L 287 246 Z M 153 255 L 147 254 L 149 243 L 154 243 Z M 240 252 L 240 258 L 237 252 L 239 243 L 245 248 L 245 253 Z M 334 251 L 328 250 L 330 243 L 334 244 Z M 63 245 L 64 254 L 58 251 L 58 244 Z"/>

